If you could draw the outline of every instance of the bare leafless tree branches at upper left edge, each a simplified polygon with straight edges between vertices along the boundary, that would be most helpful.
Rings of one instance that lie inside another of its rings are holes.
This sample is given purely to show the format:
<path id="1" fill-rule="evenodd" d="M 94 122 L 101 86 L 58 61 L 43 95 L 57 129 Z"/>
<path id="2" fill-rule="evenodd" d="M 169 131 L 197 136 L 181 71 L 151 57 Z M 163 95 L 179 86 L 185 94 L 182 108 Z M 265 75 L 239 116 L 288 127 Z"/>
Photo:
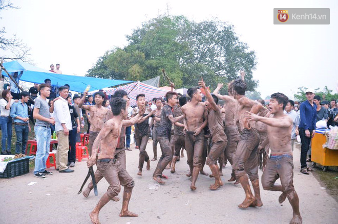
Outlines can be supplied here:
<path id="1" fill-rule="evenodd" d="M 0 1 L 0 13 L 2 10 L 7 9 L 17 9 L 17 7 L 13 6 L 10 1 Z M 2 19 L 0 17 L 0 19 Z M 9 55 L 5 55 L 4 59 L 9 60 L 22 60 L 27 61 L 27 57 L 29 56 L 30 48 L 27 47 L 25 43 L 14 34 L 12 38 L 6 37 L 6 29 L 5 27 L 0 28 L 0 48 L 5 52 L 5 54 L 9 53 Z"/>

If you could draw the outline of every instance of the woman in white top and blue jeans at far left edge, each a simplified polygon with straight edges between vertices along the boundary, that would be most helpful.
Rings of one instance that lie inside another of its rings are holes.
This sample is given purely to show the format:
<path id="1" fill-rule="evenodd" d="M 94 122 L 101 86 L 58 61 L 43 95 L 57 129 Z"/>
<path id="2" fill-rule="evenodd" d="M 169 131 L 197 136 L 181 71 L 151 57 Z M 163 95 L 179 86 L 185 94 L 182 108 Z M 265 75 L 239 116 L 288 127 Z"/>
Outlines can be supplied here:
<path id="1" fill-rule="evenodd" d="M 10 116 L 10 109 L 15 103 L 13 96 L 9 89 L 2 92 L 2 99 L 0 99 L 0 125 L 1 125 L 1 155 L 11 155 L 12 145 L 12 117 Z M 7 147 L 6 147 L 7 141 Z"/>

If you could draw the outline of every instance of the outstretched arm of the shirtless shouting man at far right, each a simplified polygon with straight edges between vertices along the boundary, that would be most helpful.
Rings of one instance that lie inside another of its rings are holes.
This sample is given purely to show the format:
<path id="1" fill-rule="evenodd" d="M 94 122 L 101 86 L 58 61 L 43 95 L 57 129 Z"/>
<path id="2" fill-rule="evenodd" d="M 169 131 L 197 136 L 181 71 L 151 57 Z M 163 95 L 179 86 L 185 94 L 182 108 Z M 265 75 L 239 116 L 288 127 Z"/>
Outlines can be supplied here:
<path id="1" fill-rule="evenodd" d="M 254 121 L 261 121 L 265 123 L 268 126 L 276 127 L 276 128 L 288 128 L 292 126 L 292 119 L 288 116 L 283 117 L 282 119 L 277 119 L 273 117 L 261 117 L 257 114 L 251 113 L 246 111 L 246 114 L 244 115 L 244 118 L 246 118 L 248 121 L 254 120 Z"/>

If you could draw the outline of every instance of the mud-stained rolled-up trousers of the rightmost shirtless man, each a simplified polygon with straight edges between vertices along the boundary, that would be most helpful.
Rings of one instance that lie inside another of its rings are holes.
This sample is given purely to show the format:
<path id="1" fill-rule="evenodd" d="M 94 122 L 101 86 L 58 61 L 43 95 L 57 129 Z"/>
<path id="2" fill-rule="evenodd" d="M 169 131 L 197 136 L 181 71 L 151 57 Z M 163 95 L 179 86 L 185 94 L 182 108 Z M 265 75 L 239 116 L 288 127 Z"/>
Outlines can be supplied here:
<path id="1" fill-rule="evenodd" d="M 294 190 L 293 186 L 293 162 L 290 154 L 270 156 L 262 175 L 264 190 L 269 190 L 274 182 L 281 179 L 283 191 Z"/>

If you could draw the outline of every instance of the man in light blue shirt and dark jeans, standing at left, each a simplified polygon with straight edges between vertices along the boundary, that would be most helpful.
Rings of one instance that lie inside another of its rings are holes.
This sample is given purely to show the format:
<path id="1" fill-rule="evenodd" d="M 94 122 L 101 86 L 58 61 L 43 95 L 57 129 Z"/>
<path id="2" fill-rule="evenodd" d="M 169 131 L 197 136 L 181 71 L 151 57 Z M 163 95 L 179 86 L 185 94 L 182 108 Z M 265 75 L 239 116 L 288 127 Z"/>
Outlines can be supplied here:
<path id="1" fill-rule="evenodd" d="M 28 134 L 31 131 L 28 118 L 29 99 L 28 92 L 20 93 L 20 101 L 14 103 L 11 108 L 11 117 L 14 119 L 14 128 L 16 133 L 15 154 L 25 154 Z"/>

